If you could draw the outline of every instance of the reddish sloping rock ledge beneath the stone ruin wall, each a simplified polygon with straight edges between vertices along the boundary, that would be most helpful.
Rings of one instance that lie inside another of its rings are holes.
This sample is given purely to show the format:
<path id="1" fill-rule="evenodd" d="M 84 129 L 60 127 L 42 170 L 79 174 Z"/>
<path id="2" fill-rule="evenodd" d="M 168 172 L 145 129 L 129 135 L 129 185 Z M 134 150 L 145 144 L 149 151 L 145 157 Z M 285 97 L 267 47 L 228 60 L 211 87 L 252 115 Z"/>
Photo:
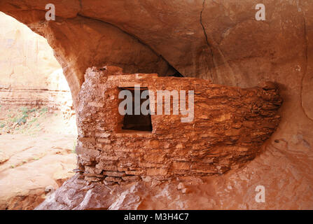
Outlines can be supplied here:
<path id="1" fill-rule="evenodd" d="M 36 209 L 313 209 L 312 151 L 287 153 L 285 144 L 221 176 L 104 186 L 76 174 Z M 265 186 L 265 203 L 256 186 Z"/>

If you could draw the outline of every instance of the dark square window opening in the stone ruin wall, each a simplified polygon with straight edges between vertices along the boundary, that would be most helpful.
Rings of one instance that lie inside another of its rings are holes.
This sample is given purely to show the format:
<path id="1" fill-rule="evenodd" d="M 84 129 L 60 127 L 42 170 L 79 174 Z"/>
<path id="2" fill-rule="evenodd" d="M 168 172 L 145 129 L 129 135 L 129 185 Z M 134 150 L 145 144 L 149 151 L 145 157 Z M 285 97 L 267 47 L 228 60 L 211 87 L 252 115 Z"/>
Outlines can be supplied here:
<path id="1" fill-rule="evenodd" d="M 125 114 L 124 120 L 123 120 L 123 130 L 135 130 L 135 131 L 145 131 L 145 132 L 152 132 L 152 123 L 151 123 L 151 114 L 148 115 L 134 115 L 134 87 L 121 87 L 120 90 L 129 90 L 132 92 L 132 115 Z M 141 92 L 144 90 L 148 90 L 146 87 L 140 87 L 140 95 Z M 147 97 L 148 98 L 148 97 Z M 140 99 L 140 107 L 143 102 L 145 102 L 147 99 Z M 150 111 L 150 108 L 148 108 L 148 111 Z"/>

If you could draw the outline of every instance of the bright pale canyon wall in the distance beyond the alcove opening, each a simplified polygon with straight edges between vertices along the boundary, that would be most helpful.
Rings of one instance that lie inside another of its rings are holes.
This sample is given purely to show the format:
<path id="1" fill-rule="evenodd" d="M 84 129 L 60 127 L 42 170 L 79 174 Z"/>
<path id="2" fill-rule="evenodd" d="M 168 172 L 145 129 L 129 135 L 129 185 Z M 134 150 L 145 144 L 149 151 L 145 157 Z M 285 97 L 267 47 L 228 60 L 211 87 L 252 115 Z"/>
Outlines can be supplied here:
<path id="1" fill-rule="evenodd" d="M 46 38 L 0 13 L 0 105 L 73 109 L 62 67 Z"/>

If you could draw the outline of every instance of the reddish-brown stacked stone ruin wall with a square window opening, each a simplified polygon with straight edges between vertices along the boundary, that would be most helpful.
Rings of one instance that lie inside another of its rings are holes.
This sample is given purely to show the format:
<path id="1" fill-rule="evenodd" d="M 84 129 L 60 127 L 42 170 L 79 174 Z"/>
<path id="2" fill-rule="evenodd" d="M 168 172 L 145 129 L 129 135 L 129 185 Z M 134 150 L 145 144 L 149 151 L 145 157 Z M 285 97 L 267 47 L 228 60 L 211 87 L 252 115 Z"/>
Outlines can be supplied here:
<path id="1" fill-rule="evenodd" d="M 153 132 L 120 131 L 118 87 L 134 85 L 153 92 L 194 90 L 193 122 L 181 123 L 181 115 L 152 115 Z M 92 67 L 79 94 L 77 172 L 105 184 L 223 174 L 256 157 L 279 124 L 281 103 L 273 83 L 242 89 Z"/>

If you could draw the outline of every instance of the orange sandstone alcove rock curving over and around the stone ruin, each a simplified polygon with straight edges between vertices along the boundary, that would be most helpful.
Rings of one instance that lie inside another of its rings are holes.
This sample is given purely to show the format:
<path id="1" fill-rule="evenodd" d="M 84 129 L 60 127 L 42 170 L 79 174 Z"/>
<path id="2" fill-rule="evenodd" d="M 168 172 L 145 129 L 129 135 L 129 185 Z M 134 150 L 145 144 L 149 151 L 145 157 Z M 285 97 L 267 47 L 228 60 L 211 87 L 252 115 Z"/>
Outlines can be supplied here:
<path id="1" fill-rule="evenodd" d="M 57 20 L 45 20 L 46 3 L 55 3 Z M 253 87 L 263 81 L 278 83 L 284 99 L 281 123 L 263 145 L 264 153 L 238 172 L 212 177 L 207 183 L 211 187 L 204 186 L 211 189 L 206 194 L 215 199 L 201 197 L 201 208 L 312 209 L 313 3 L 264 1 L 265 21 L 255 20 L 256 3 L 4 0 L 0 10 L 47 38 L 76 105 L 85 70 L 104 64 L 120 66 L 125 72 L 181 73 L 238 87 Z M 60 192 L 76 188 L 73 183 L 78 185 L 71 180 Z M 267 204 L 255 204 L 257 185 L 269 189 Z M 91 196 L 82 194 L 83 203 L 88 203 Z M 124 198 L 133 194 L 134 188 L 125 191 Z M 151 199 L 158 195 L 153 195 L 121 200 L 119 207 L 111 209 L 129 208 L 123 205 L 134 202 L 138 202 L 137 209 L 190 208 L 195 198 L 193 195 L 186 204 L 179 204 L 182 197 L 177 196 L 176 204 L 165 200 L 160 205 Z M 57 203 L 62 208 L 75 207 L 61 196 Z"/>

